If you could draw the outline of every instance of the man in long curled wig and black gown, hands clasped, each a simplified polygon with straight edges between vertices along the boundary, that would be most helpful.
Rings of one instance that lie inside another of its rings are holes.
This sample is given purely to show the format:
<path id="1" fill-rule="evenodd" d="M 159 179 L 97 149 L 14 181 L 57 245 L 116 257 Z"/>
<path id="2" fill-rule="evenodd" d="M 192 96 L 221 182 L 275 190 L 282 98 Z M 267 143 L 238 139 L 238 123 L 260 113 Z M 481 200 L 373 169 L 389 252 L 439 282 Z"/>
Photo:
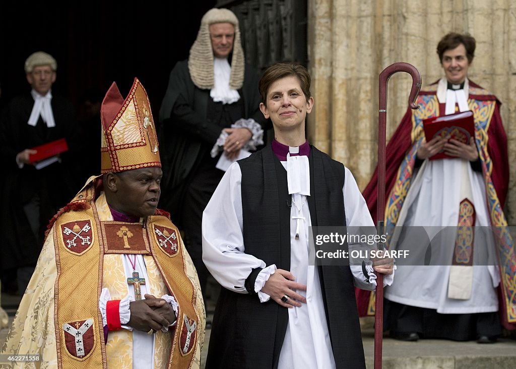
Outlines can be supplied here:
<path id="1" fill-rule="evenodd" d="M 238 18 L 229 9 L 210 9 L 188 59 L 170 72 L 159 111 L 169 169 L 160 206 L 184 230 L 203 292 L 209 273 L 202 262 L 202 212 L 224 174 L 217 163 L 263 145 L 258 80 L 245 63 Z"/>

